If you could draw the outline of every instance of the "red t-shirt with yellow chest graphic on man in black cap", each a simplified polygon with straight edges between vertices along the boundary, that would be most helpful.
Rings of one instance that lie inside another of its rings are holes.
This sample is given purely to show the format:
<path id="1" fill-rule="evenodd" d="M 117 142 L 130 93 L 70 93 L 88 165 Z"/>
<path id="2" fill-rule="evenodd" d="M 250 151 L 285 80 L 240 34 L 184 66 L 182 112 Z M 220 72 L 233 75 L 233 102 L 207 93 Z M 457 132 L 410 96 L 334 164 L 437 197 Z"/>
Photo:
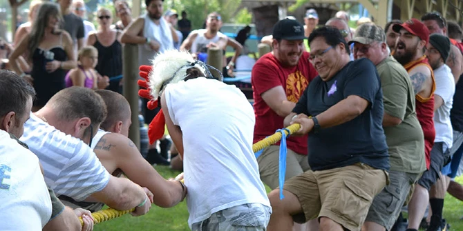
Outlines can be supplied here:
<path id="1" fill-rule="evenodd" d="M 310 54 L 303 52 L 297 66 L 283 68 L 272 53 L 267 53 L 252 68 L 252 90 L 254 97 L 254 114 L 256 125 L 254 127 L 254 143 L 274 134 L 283 128 L 284 117 L 278 116 L 262 99 L 261 94 L 276 86 L 282 86 L 288 101 L 297 103 L 309 82 L 318 73 L 309 62 Z M 303 137 L 288 137 L 287 148 L 298 153 L 307 154 L 307 135 Z M 279 145 L 280 143 L 276 143 Z"/>

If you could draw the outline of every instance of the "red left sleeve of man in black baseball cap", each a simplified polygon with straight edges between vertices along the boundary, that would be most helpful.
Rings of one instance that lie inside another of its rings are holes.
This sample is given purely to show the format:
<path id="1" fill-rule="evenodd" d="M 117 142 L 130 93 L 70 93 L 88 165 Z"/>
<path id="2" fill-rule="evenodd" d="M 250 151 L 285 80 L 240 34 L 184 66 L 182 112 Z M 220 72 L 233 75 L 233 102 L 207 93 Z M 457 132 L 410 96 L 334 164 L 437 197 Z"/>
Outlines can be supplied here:
<path id="1" fill-rule="evenodd" d="M 261 59 L 265 59 L 261 58 Z M 251 72 L 252 90 L 261 95 L 267 90 L 276 86 L 283 86 L 278 72 L 275 70 L 268 59 L 254 64 Z"/>

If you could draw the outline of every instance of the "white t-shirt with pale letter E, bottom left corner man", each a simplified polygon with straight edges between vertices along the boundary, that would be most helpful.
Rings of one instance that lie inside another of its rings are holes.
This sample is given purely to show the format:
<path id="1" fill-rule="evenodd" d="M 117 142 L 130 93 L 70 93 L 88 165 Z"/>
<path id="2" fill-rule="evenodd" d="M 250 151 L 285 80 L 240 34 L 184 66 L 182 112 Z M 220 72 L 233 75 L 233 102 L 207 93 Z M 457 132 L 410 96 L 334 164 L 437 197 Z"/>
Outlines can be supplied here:
<path id="1" fill-rule="evenodd" d="M 52 205 L 39 159 L 0 130 L 0 230 L 41 230 Z"/>

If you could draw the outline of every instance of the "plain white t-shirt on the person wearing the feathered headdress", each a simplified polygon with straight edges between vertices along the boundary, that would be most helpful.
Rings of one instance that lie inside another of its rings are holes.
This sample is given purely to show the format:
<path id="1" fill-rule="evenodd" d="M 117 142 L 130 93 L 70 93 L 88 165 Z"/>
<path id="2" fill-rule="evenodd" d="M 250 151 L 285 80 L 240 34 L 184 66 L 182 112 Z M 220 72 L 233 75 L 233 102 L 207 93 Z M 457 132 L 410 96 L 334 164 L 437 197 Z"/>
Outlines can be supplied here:
<path id="1" fill-rule="evenodd" d="M 252 152 L 254 110 L 243 92 L 201 77 L 169 84 L 165 97 L 183 134 L 190 228 L 236 205 L 270 207 Z"/>

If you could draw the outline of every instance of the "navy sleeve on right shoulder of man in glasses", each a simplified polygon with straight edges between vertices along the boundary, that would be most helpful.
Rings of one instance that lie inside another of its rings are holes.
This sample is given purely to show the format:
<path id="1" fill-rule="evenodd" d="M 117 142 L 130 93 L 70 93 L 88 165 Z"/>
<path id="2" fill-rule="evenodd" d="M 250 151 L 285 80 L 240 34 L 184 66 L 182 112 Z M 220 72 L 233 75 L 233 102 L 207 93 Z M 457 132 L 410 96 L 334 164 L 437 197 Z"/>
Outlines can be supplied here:
<path id="1" fill-rule="evenodd" d="M 372 107 L 376 94 L 380 90 L 376 67 L 368 59 L 359 59 L 348 68 L 344 83 L 344 99 L 351 95 L 357 95 L 368 101 Z"/>

